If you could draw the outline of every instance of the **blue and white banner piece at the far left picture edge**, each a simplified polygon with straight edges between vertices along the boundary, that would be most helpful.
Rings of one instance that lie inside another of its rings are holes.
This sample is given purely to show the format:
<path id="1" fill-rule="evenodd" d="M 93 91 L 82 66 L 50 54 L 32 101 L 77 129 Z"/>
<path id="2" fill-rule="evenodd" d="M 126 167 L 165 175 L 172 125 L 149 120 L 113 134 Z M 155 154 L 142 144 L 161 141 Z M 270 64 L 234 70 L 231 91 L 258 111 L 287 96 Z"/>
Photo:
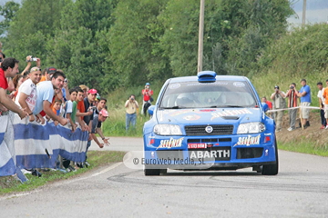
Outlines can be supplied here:
<path id="1" fill-rule="evenodd" d="M 14 129 L 9 115 L 0 115 L 0 176 L 15 174 Z"/>

